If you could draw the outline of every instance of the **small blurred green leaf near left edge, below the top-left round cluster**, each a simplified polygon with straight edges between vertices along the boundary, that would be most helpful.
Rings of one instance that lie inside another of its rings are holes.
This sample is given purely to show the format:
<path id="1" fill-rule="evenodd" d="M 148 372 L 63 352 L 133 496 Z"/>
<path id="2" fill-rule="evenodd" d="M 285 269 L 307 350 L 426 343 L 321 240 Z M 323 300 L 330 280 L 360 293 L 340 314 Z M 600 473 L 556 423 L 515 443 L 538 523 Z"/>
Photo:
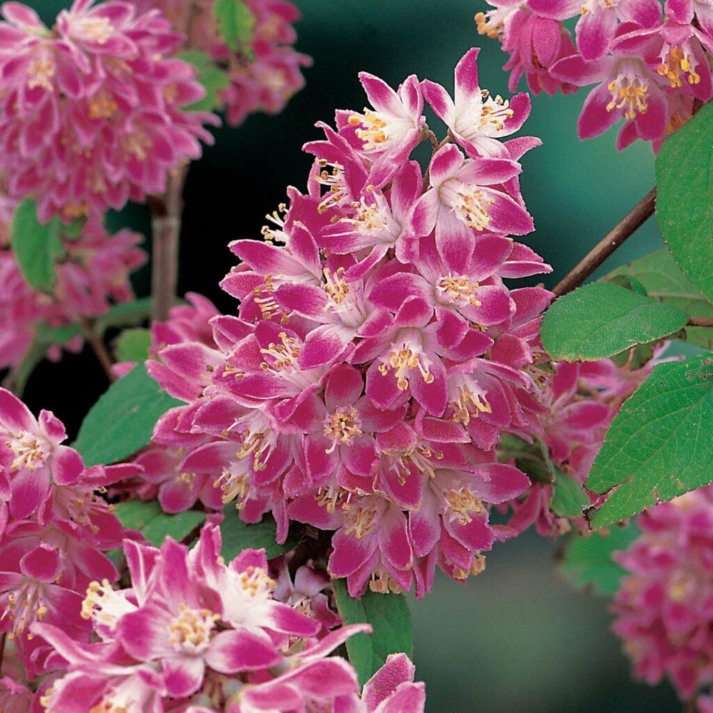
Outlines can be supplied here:
<path id="1" fill-rule="evenodd" d="M 64 255 L 61 220 L 54 217 L 46 225 L 37 220 L 37 209 L 26 198 L 12 219 L 12 250 L 26 281 L 43 292 L 51 292 L 57 279 L 55 262 Z"/>

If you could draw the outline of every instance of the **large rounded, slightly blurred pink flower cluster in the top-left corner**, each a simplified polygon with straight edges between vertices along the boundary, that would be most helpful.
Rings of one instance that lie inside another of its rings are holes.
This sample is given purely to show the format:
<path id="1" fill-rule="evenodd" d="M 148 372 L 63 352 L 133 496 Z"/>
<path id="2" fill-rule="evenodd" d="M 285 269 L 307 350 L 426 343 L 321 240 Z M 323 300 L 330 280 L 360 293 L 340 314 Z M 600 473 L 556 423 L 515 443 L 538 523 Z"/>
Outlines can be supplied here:
<path id="1" fill-rule="evenodd" d="M 75 0 L 48 29 L 34 10 L 0 12 L 0 171 L 14 198 L 36 198 L 40 220 L 88 215 L 165 190 L 198 158 L 212 114 L 195 68 L 170 54 L 183 36 L 158 11 Z M 168 56 L 168 57 L 167 57 Z"/>

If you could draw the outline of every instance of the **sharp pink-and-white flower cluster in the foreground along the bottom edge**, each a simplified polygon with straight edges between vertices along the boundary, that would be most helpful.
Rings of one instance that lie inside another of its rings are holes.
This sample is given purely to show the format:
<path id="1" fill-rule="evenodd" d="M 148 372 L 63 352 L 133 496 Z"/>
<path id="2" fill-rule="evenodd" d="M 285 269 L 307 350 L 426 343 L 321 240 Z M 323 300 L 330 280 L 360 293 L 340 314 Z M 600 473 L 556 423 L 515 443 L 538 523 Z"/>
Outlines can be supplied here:
<path id="1" fill-rule="evenodd" d="M 226 564 L 220 548 L 212 525 L 190 552 L 170 538 L 160 550 L 125 540 L 131 587 L 90 583 L 81 616 L 91 638 L 32 626 L 54 648 L 41 704 L 54 713 L 423 713 L 424 684 L 406 655 L 389 656 L 360 695 L 356 672 L 329 654 L 369 627 L 317 638 L 322 624 L 304 598 L 275 598 L 264 550 Z"/>

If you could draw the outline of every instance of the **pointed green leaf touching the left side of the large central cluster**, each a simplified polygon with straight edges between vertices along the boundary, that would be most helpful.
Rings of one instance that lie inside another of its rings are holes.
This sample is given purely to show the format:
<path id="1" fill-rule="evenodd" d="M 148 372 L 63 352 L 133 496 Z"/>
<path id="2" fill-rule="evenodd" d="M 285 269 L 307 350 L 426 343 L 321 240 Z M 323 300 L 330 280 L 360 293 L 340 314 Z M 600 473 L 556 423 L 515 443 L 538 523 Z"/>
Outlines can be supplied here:
<path id="1" fill-rule="evenodd" d="M 116 463 L 148 446 L 156 421 L 182 403 L 163 391 L 146 367 L 138 364 L 92 406 L 73 446 L 87 466 Z"/>

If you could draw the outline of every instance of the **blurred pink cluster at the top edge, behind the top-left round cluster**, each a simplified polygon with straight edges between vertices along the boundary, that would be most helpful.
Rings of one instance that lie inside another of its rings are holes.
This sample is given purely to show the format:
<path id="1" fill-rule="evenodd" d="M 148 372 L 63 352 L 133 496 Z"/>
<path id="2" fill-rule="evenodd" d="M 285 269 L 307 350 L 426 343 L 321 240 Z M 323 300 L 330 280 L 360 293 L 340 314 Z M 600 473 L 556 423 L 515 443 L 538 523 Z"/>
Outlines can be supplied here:
<path id="1" fill-rule="evenodd" d="M 312 59 L 294 50 L 297 34 L 292 24 L 299 20 L 299 11 L 285 0 L 245 0 L 251 37 L 237 51 L 225 44 L 215 21 L 215 0 L 136 0 L 135 4 L 162 10 L 188 36 L 190 48 L 204 51 L 226 69 L 230 85 L 219 95 L 233 126 L 257 111 L 282 111 L 304 87 L 301 70 Z"/>

